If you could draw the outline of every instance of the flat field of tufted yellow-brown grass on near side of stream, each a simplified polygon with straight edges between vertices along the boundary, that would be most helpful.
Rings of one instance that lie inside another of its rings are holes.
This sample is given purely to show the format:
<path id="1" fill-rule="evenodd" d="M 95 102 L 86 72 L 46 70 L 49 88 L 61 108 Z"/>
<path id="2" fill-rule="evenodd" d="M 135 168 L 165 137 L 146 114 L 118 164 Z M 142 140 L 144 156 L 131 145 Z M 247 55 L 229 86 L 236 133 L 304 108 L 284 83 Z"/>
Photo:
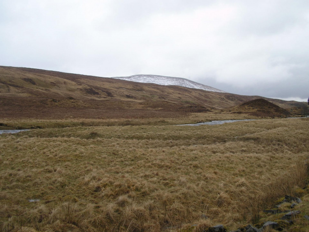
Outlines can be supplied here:
<path id="1" fill-rule="evenodd" d="M 0 229 L 236 229 L 305 186 L 308 122 L 84 126 L 0 135 Z"/>

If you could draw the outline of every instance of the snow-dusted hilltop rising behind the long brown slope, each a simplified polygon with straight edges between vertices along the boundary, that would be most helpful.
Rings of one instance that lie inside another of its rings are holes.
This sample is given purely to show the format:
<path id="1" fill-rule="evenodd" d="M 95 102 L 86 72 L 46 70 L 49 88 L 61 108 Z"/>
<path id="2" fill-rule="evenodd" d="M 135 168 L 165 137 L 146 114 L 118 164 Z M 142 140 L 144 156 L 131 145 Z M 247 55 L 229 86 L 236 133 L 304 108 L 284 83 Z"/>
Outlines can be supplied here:
<path id="1" fill-rule="evenodd" d="M 154 83 L 158 85 L 178 85 L 178 86 L 187 87 L 187 88 L 203 89 L 207 91 L 225 93 L 224 91 L 220 89 L 216 89 L 208 85 L 203 85 L 195 81 L 191 81 L 191 80 L 188 80 L 185 78 L 179 78 L 179 77 L 158 76 L 158 75 L 134 75 L 134 76 L 124 76 L 124 77 L 114 77 L 114 78 L 121 79 L 121 80 L 134 81 L 134 82 L 141 82 L 141 83 Z"/>

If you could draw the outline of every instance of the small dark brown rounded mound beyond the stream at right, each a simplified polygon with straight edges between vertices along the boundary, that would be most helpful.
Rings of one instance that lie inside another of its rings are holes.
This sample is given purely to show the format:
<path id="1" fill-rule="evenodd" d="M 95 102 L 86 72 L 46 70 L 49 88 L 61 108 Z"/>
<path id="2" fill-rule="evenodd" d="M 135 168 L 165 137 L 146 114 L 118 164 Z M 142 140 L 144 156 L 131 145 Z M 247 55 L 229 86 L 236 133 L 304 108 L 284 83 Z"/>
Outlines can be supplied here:
<path id="1" fill-rule="evenodd" d="M 249 113 L 259 117 L 288 117 L 291 113 L 278 105 L 275 105 L 265 99 L 259 98 L 245 102 L 238 106 L 226 109 L 232 113 Z"/>

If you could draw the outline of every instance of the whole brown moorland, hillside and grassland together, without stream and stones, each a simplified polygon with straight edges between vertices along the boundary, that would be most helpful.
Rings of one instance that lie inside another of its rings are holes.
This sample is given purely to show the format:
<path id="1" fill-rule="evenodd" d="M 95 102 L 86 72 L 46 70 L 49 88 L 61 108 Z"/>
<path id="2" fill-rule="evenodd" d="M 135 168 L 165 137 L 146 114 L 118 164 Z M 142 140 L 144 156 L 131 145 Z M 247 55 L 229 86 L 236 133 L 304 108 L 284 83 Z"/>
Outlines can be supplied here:
<path id="1" fill-rule="evenodd" d="M 1 231 L 309 230 L 304 103 L 0 67 L 0 106 Z"/>

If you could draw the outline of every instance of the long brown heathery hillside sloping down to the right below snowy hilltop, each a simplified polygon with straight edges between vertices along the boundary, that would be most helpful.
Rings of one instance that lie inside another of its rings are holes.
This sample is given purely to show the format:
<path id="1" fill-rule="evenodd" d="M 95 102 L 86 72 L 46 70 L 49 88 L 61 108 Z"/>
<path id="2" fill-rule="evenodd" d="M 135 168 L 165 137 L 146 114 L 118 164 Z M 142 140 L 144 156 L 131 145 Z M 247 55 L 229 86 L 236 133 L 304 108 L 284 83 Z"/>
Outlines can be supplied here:
<path id="1" fill-rule="evenodd" d="M 260 97 L 0 66 L 0 118 L 177 117 L 256 98 Z M 285 108 L 300 104 L 268 100 Z"/>

